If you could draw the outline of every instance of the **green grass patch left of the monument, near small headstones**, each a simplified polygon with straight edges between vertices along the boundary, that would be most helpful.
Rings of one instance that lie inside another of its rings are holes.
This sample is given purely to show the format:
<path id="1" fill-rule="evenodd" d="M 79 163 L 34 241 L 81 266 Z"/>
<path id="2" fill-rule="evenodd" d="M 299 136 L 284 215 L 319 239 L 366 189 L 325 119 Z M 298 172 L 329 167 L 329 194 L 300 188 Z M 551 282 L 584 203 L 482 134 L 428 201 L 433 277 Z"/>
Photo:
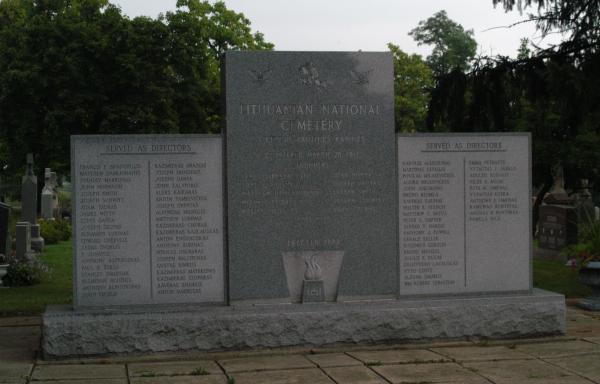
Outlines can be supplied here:
<path id="1" fill-rule="evenodd" d="M 51 274 L 38 285 L 0 289 L 0 316 L 34 315 L 49 304 L 70 304 L 73 296 L 73 266 L 70 241 L 47 245 L 41 256 Z"/>

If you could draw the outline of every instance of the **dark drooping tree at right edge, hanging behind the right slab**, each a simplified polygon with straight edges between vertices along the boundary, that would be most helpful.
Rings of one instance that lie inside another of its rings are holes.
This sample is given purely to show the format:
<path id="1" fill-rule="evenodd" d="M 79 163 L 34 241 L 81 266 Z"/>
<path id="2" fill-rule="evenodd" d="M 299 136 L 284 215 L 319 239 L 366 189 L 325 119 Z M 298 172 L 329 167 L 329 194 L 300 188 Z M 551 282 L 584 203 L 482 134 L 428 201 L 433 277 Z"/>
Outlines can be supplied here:
<path id="1" fill-rule="evenodd" d="M 550 189 L 551 169 L 566 168 L 567 187 L 579 178 L 600 186 L 600 0 L 492 0 L 506 10 L 531 8 L 529 19 L 543 35 L 567 39 L 531 51 L 522 40 L 519 57 L 483 57 L 468 73 L 438 77 L 428 109 L 430 130 L 527 131 L 532 134 L 533 209 Z M 537 7 L 536 7 L 537 6 Z"/>

